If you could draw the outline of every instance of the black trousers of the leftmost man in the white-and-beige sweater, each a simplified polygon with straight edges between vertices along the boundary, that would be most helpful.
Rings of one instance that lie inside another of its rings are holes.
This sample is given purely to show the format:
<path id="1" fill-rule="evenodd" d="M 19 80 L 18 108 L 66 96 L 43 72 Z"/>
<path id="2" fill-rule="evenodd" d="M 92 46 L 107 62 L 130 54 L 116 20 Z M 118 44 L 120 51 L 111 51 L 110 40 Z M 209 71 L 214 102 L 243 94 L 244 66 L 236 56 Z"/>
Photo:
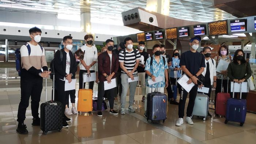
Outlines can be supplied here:
<path id="1" fill-rule="evenodd" d="M 19 123 L 23 123 L 26 118 L 26 110 L 29 106 L 29 98 L 31 96 L 31 112 L 34 118 L 38 118 L 38 108 L 43 89 L 43 78 L 23 78 L 20 77 L 20 103 L 18 108 Z"/>

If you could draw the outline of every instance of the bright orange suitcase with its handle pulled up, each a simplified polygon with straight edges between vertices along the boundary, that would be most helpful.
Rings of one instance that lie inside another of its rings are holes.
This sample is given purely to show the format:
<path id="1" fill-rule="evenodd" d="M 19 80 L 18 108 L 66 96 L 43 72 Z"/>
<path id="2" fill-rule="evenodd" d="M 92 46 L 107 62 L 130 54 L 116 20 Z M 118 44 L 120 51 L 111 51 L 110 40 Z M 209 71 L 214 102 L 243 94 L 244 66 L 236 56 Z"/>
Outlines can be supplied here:
<path id="1" fill-rule="evenodd" d="M 83 75 L 86 73 L 83 73 Z M 89 88 L 89 84 L 88 84 Z M 91 89 L 80 89 L 78 90 L 78 113 L 93 111 L 93 90 Z"/>

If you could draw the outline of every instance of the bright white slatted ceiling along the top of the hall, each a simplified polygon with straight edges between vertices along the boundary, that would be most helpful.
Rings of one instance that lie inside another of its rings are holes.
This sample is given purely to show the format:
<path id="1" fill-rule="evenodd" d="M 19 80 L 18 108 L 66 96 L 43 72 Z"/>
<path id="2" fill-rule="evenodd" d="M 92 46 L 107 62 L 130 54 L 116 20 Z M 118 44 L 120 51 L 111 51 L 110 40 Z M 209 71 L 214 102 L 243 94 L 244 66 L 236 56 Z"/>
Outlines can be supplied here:
<path id="1" fill-rule="evenodd" d="M 146 3 L 147 0 L 0 0 L 0 10 L 53 15 L 91 12 L 92 18 L 122 21 L 121 12 L 146 8 Z M 235 18 L 213 7 L 212 0 L 170 0 L 169 16 L 197 22 Z"/>

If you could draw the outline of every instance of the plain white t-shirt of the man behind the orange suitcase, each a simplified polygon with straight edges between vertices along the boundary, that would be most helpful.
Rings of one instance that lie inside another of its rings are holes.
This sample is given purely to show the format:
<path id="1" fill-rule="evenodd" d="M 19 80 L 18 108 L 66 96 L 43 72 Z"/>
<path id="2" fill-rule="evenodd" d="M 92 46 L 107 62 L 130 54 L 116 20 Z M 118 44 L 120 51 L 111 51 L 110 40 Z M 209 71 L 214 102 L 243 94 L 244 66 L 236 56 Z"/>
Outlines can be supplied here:
<path id="1" fill-rule="evenodd" d="M 90 65 L 93 61 L 98 61 L 98 52 L 95 46 L 88 47 L 86 45 L 81 47 L 81 50 L 84 52 L 84 62 L 86 65 Z M 86 70 L 82 63 L 80 62 L 80 69 Z M 90 68 L 90 71 L 95 71 L 95 64 Z"/>

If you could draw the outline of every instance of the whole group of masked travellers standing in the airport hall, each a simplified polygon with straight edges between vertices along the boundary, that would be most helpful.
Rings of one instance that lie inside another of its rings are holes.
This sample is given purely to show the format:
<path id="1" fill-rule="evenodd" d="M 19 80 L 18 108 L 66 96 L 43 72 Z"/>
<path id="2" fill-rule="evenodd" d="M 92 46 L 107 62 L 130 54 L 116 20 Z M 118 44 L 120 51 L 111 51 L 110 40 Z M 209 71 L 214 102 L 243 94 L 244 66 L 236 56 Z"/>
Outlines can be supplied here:
<path id="1" fill-rule="evenodd" d="M 33 27 L 29 30 L 31 41 L 27 43 L 30 45 L 31 52 L 28 52 L 27 46 L 23 45 L 20 48 L 21 56 L 21 76 L 20 88 L 21 99 L 18 109 L 18 128 L 17 132 L 26 134 L 27 129 L 24 124 L 26 109 L 29 106 L 29 98 L 31 96 L 31 111 L 33 116 L 32 125 L 40 125 L 40 118 L 38 114 L 39 101 L 42 92 L 42 79 L 50 75 L 48 71 L 45 50 L 38 45 L 41 40 L 42 31 Z M 120 114 L 125 114 L 126 96 L 129 90 L 129 106 L 128 110 L 135 112 L 133 108 L 134 96 L 137 86 L 135 77 L 139 76 L 140 85 L 142 87 L 142 102 L 145 105 L 145 114 L 147 107 L 147 94 L 152 91 L 164 92 L 165 88 L 168 93 L 168 100 L 170 104 L 178 105 L 178 120 L 176 125 L 180 126 L 184 123 L 184 109 L 188 92 L 182 86 L 178 85 L 178 93 L 180 94 L 180 101 L 177 102 L 174 98 L 172 86 L 176 83 L 176 77 L 180 78 L 183 74 L 189 77 L 188 84 L 194 83 L 195 86 L 189 91 L 189 102 L 187 107 L 187 116 L 185 121 L 188 124 L 193 124 L 191 115 L 195 98 L 197 95 L 197 88 L 210 88 L 208 96 L 210 97 L 211 88 L 216 88 L 216 93 L 221 92 L 221 79 L 223 77 L 224 90 L 227 90 L 227 79 L 231 81 L 242 83 L 251 76 L 251 68 L 244 58 L 244 52 L 237 50 L 234 57 L 229 55 L 228 48 L 221 46 L 219 49 L 219 56 L 214 59 L 211 56 L 211 47 L 203 48 L 203 54 L 197 52 L 201 37 L 196 36 L 191 38 L 189 45 L 191 49 L 181 54 L 179 50 L 173 51 L 172 57 L 166 53 L 165 45 L 155 44 L 153 46 L 153 56 L 144 51 L 145 43 L 139 42 L 137 49 L 133 48 L 133 40 L 130 37 L 124 39 L 117 49 L 114 49 L 114 41 L 112 39 L 106 40 L 105 48 L 102 48 L 102 53 L 98 56 L 98 51 L 93 46 L 93 35 L 87 34 L 84 37 L 86 45 L 82 46 L 74 54 L 72 50 L 72 37 L 65 36 L 63 38 L 64 48 L 57 50 L 54 56 L 54 71 L 55 71 L 55 101 L 59 101 L 63 105 L 62 117 L 63 127 L 68 127 L 69 119 L 65 114 L 77 114 L 75 108 L 75 90 L 65 91 L 65 81 L 70 83 L 75 79 L 77 65 L 80 67 L 79 71 L 79 89 L 85 88 L 83 82 L 83 73 L 96 73 L 96 83 L 98 83 L 98 102 L 97 115 L 102 117 L 102 101 L 103 97 L 109 100 L 110 114 L 118 115 L 114 110 L 114 104 L 117 104 L 117 95 L 121 99 Z M 221 73 L 216 72 L 216 66 L 220 60 L 230 62 L 227 71 Z M 170 72 L 167 70 L 170 69 Z M 204 82 L 201 85 L 197 84 L 197 80 L 204 77 Z M 116 78 L 116 82 L 113 79 Z M 131 82 L 128 82 L 131 79 Z M 150 85 L 148 80 L 161 79 L 160 82 Z M 104 82 L 117 83 L 117 87 L 104 90 Z M 89 82 L 89 88 L 93 90 L 94 82 Z M 69 96 L 72 103 L 70 111 L 68 107 Z M 246 99 L 246 93 L 242 94 L 242 98 Z M 210 113 L 208 116 L 211 117 Z"/>

